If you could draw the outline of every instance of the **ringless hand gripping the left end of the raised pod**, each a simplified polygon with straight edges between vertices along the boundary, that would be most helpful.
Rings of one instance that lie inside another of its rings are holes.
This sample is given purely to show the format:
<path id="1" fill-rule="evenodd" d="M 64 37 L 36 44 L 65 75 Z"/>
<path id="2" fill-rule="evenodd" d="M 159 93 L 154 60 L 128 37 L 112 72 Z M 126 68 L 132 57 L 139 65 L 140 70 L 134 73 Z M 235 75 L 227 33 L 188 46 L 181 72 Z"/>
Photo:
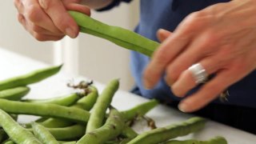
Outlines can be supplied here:
<path id="1" fill-rule="evenodd" d="M 67 10 L 90 15 L 90 8 L 80 0 L 14 0 L 18 21 L 38 41 L 58 41 L 65 35 L 75 38 L 78 25 Z"/>

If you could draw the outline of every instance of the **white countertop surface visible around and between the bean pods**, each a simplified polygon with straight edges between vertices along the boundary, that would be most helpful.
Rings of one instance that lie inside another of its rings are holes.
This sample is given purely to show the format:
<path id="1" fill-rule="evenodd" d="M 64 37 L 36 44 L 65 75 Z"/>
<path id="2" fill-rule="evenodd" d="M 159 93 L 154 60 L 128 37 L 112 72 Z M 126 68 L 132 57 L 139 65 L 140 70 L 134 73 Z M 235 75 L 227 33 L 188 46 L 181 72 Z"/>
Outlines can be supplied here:
<path id="1" fill-rule="evenodd" d="M 19 54 L 14 54 L 13 52 L 4 50 L 0 47 L 0 66 L 0 80 L 2 80 L 5 78 L 14 77 L 18 74 L 26 74 L 31 70 L 37 70 L 39 68 L 46 67 L 47 65 L 45 63 L 23 57 Z M 51 78 L 31 85 L 30 94 L 28 94 L 26 98 L 50 98 L 70 94 L 72 90 L 66 86 L 67 82 L 79 82 L 80 80 L 86 79 L 88 78 L 68 75 L 60 72 Z M 104 88 L 104 85 L 98 82 L 94 82 L 94 84 L 98 87 L 99 91 Z M 145 98 L 119 90 L 115 94 L 112 104 L 118 108 L 118 110 L 126 110 L 137 105 L 138 103 L 146 101 L 147 99 Z M 170 125 L 174 122 L 182 122 L 187 118 L 190 118 L 192 115 L 183 114 L 182 112 L 173 110 L 167 106 L 157 106 L 154 108 L 154 110 L 151 110 L 147 116 L 153 118 L 156 125 L 160 127 Z M 18 120 L 20 122 L 27 122 L 33 118 L 34 117 L 31 116 L 22 116 Z M 136 127 L 136 129 L 139 131 L 146 130 L 145 127 Z M 200 140 L 207 140 L 217 135 L 225 137 L 231 144 L 256 143 L 256 135 L 212 121 L 207 122 L 205 129 L 197 132 L 196 134 L 190 134 L 182 138 L 197 138 Z"/>

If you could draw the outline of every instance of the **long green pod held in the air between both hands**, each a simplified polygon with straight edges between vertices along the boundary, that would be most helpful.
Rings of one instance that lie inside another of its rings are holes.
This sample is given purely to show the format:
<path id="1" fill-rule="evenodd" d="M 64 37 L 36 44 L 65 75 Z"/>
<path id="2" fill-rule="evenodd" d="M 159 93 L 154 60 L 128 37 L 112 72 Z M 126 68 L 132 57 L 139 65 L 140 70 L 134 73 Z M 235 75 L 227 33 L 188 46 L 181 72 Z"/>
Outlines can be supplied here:
<path id="1" fill-rule="evenodd" d="M 154 42 L 133 31 L 118 26 L 109 26 L 76 11 L 69 11 L 69 13 L 80 26 L 81 32 L 105 38 L 126 49 L 151 56 L 159 46 L 158 42 Z"/>

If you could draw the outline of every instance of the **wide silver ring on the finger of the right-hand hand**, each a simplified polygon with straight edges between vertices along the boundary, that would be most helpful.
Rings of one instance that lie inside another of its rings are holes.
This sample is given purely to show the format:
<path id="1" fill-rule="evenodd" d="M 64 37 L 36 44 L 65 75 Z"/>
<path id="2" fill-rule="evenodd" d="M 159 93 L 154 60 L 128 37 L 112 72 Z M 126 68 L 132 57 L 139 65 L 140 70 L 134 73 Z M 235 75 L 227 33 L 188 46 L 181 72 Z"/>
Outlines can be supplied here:
<path id="1" fill-rule="evenodd" d="M 197 84 L 206 82 L 208 74 L 200 63 L 190 66 L 188 70 L 190 70 Z"/>

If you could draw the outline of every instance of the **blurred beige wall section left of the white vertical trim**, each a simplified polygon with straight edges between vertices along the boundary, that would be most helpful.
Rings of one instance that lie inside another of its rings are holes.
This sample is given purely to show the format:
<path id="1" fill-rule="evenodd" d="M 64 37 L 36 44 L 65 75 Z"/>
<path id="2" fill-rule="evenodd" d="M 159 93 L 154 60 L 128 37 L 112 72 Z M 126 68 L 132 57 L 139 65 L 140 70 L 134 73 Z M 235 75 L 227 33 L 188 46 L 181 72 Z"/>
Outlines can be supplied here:
<path id="1" fill-rule="evenodd" d="M 0 46 L 39 61 L 53 61 L 53 42 L 38 42 L 19 24 L 13 0 L 0 1 Z"/>

